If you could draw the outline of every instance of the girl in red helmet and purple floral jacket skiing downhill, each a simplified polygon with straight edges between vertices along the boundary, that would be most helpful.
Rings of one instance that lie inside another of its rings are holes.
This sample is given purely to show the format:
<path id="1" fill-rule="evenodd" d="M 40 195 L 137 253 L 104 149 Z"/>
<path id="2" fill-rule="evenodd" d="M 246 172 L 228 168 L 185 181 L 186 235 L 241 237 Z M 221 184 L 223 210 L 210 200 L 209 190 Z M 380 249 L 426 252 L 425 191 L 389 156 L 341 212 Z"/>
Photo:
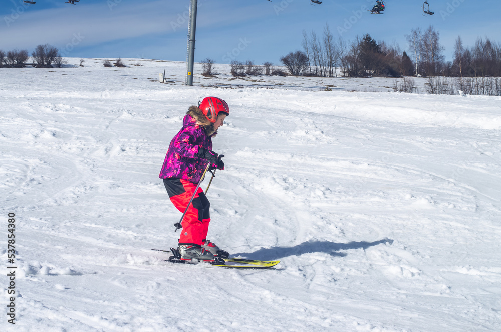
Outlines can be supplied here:
<path id="1" fill-rule="evenodd" d="M 217 97 L 206 97 L 198 107 L 190 106 L 183 127 L 170 142 L 159 177 L 163 179 L 171 202 L 181 212 L 186 210 L 203 171 L 224 170 L 224 162 L 212 151 L 212 137 L 229 115 L 228 104 Z M 210 203 L 199 187 L 181 221 L 178 251 L 182 260 L 214 261 L 225 251 L 206 239 Z"/>

